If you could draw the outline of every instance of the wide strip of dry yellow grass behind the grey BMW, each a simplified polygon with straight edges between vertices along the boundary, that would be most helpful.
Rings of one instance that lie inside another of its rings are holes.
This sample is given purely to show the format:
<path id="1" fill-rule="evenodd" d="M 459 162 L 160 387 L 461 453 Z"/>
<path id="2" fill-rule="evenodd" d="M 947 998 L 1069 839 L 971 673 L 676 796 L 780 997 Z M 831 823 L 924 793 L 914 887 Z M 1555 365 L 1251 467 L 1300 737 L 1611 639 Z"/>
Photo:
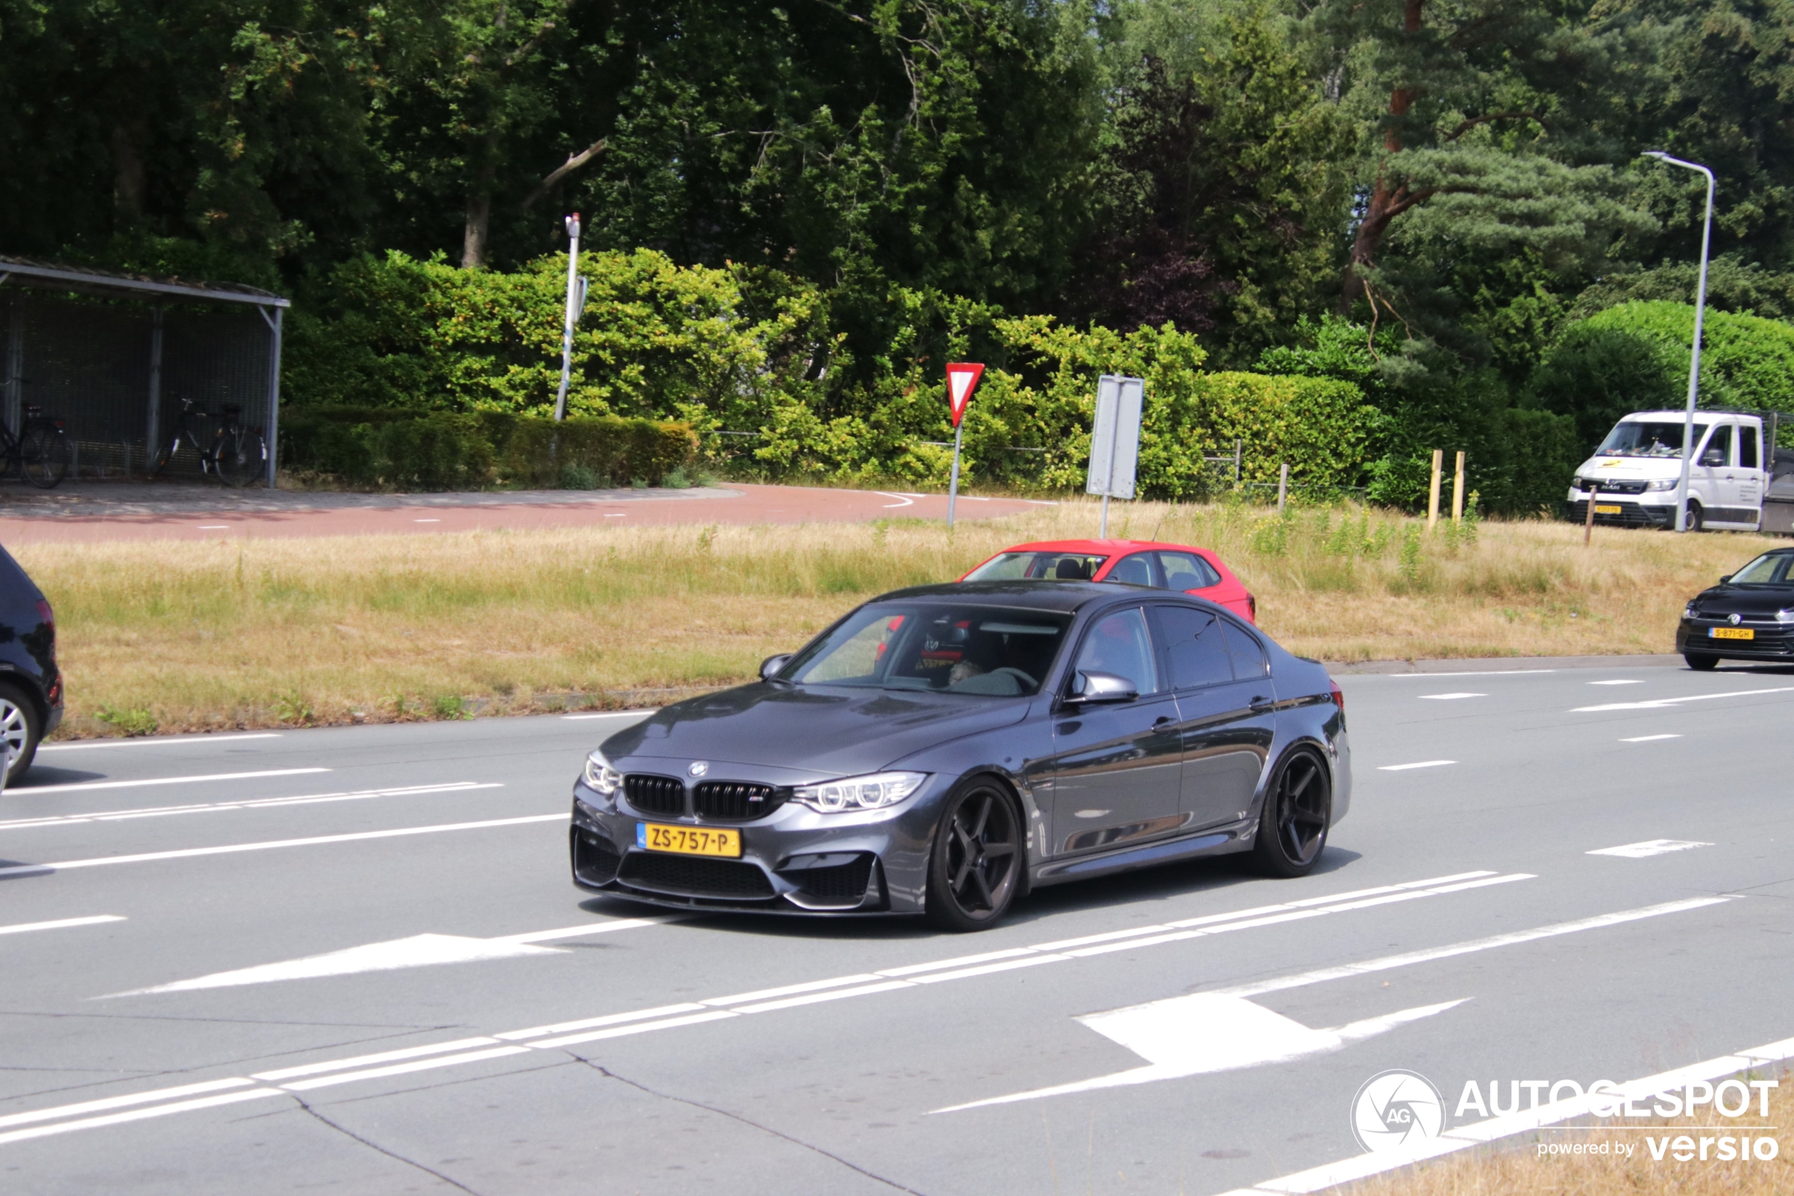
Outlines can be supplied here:
<path id="1" fill-rule="evenodd" d="M 30 545 L 56 604 L 70 733 L 443 717 L 653 699 L 753 674 L 854 602 L 1021 540 L 1089 536 L 1091 504 L 962 524 L 640 527 Z M 1222 552 L 1263 626 L 1328 660 L 1661 653 L 1688 595 L 1756 536 L 1125 504 L 1116 534 Z M 135 719 L 127 712 L 140 712 Z"/>

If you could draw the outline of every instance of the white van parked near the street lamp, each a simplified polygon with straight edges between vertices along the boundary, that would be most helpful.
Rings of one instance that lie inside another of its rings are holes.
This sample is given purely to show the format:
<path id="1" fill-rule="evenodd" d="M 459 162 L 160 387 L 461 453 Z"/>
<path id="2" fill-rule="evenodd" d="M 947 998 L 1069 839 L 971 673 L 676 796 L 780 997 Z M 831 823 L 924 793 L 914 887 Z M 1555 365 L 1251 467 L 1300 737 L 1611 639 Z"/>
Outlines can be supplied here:
<path id="1" fill-rule="evenodd" d="M 1685 425 L 1681 411 L 1636 411 L 1615 423 L 1595 455 L 1570 479 L 1570 518 L 1582 522 L 1588 516 L 1593 493 L 1597 524 L 1674 527 Z M 1764 452 L 1762 416 L 1697 411 L 1694 443 L 1688 529 L 1756 531 L 1774 455 Z"/>

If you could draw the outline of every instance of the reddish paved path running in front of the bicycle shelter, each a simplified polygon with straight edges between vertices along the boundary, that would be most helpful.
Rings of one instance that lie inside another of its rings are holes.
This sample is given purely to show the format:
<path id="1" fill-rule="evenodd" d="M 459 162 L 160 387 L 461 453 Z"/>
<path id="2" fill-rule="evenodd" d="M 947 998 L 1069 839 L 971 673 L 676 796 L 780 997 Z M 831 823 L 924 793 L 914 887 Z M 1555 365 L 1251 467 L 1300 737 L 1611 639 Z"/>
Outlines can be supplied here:
<path id="1" fill-rule="evenodd" d="M 118 540 L 396 536 L 553 527 L 669 524 L 867 524 L 881 518 L 945 520 L 945 495 L 822 486 L 753 486 L 676 491 L 529 491 L 477 495 L 332 495 L 219 491 L 197 486 L 83 486 L 50 498 L 0 504 L 0 545 Z M 144 497 L 149 495 L 149 497 Z M 996 518 L 1039 506 L 1030 498 L 960 495 L 956 518 Z"/>

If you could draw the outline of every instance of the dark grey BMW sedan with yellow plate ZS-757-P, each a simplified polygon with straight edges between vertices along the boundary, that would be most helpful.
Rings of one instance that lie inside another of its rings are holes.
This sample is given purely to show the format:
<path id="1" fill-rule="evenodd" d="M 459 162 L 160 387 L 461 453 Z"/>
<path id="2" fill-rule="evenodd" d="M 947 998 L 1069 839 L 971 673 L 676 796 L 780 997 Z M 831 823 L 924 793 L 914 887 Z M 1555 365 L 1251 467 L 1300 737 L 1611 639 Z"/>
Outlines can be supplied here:
<path id="1" fill-rule="evenodd" d="M 1304 875 L 1351 798 L 1326 669 L 1182 594 L 897 590 L 761 676 L 588 757 L 578 886 L 976 931 L 1033 886 L 1198 855 Z"/>

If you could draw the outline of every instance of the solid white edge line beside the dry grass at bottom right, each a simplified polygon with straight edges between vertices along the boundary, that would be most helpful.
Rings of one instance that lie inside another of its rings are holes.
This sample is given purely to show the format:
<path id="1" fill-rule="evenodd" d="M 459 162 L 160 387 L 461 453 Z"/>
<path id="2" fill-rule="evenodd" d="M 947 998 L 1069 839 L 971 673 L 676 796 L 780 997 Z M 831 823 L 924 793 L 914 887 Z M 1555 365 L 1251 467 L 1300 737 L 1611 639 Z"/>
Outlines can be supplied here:
<path id="1" fill-rule="evenodd" d="M 1771 1042 L 1762 1047 L 1746 1047 L 1737 1054 L 1720 1054 L 1719 1058 L 1703 1060 L 1699 1063 L 1690 1063 L 1688 1067 L 1677 1067 L 1674 1070 L 1658 1072 L 1656 1076 L 1643 1076 L 1640 1079 L 1629 1079 L 1616 1087 L 1615 1094 L 1607 1094 L 1602 1099 L 1625 1099 L 1649 1101 L 1650 1097 L 1670 1092 L 1672 1088 L 1683 1088 L 1690 1083 L 1706 1083 L 1713 1079 L 1722 1079 L 1724 1076 L 1733 1076 L 1737 1072 L 1764 1067 L 1767 1063 L 1780 1063 L 1783 1060 L 1794 1058 L 1794 1038 L 1783 1038 L 1781 1042 Z M 1455 1130 L 1442 1131 L 1437 1139 L 1432 1139 L 1414 1149 L 1394 1149 L 1381 1151 L 1376 1155 L 1358 1155 L 1354 1158 L 1342 1158 L 1320 1167 L 1310 1167 L 1308 1171 L 1297 1171 L 1295 1174 L 1277 1176 L 1276 1180 L 1263 1180 L 1252 1187 L 1234 1189 L 1225 1196 L 1261 1196 L 1263 1192 L 1277 1192 L 1279 1196 L 1299 1196 L 1304 1192 L 1319 1192 L 1328 1187 L 1338 1187 L 1351 1183 L 1354 1180 L 1363 1180 L 1372 1174 L 1381 1174 L 1385 1171 L 1396 1171 L 1399 1167 L 1408 1167 L 1415 1162 L 1426 1158 L 1439 1158 L 1441 1155 L 1451 1155 L 1457 1151 L 1471 1149 L 1473 1146 L 1485 1146 L 1489 1142 L 1498 1142 L 1516 1133 L 1530 1133 L 1543 1130 L 1545 1126 L 1554 1126 L 1563 1121 L 1572 1121 L 1573 1117 L 1588 1117 L 1595 1112 L 1595 1097 L 1581 1096 L 1570 1097 L 1566 1101 L 1552 1101 L 1548 1105 L 1539 1105 L 1537 1108 L 1528 1108 L 1518 1114 L 1507 1114 L 1503 1117 L 1491 1117 L 1487 1121 L 1478 1121 L 1467 1126 L 1457 1126 Z"/>

